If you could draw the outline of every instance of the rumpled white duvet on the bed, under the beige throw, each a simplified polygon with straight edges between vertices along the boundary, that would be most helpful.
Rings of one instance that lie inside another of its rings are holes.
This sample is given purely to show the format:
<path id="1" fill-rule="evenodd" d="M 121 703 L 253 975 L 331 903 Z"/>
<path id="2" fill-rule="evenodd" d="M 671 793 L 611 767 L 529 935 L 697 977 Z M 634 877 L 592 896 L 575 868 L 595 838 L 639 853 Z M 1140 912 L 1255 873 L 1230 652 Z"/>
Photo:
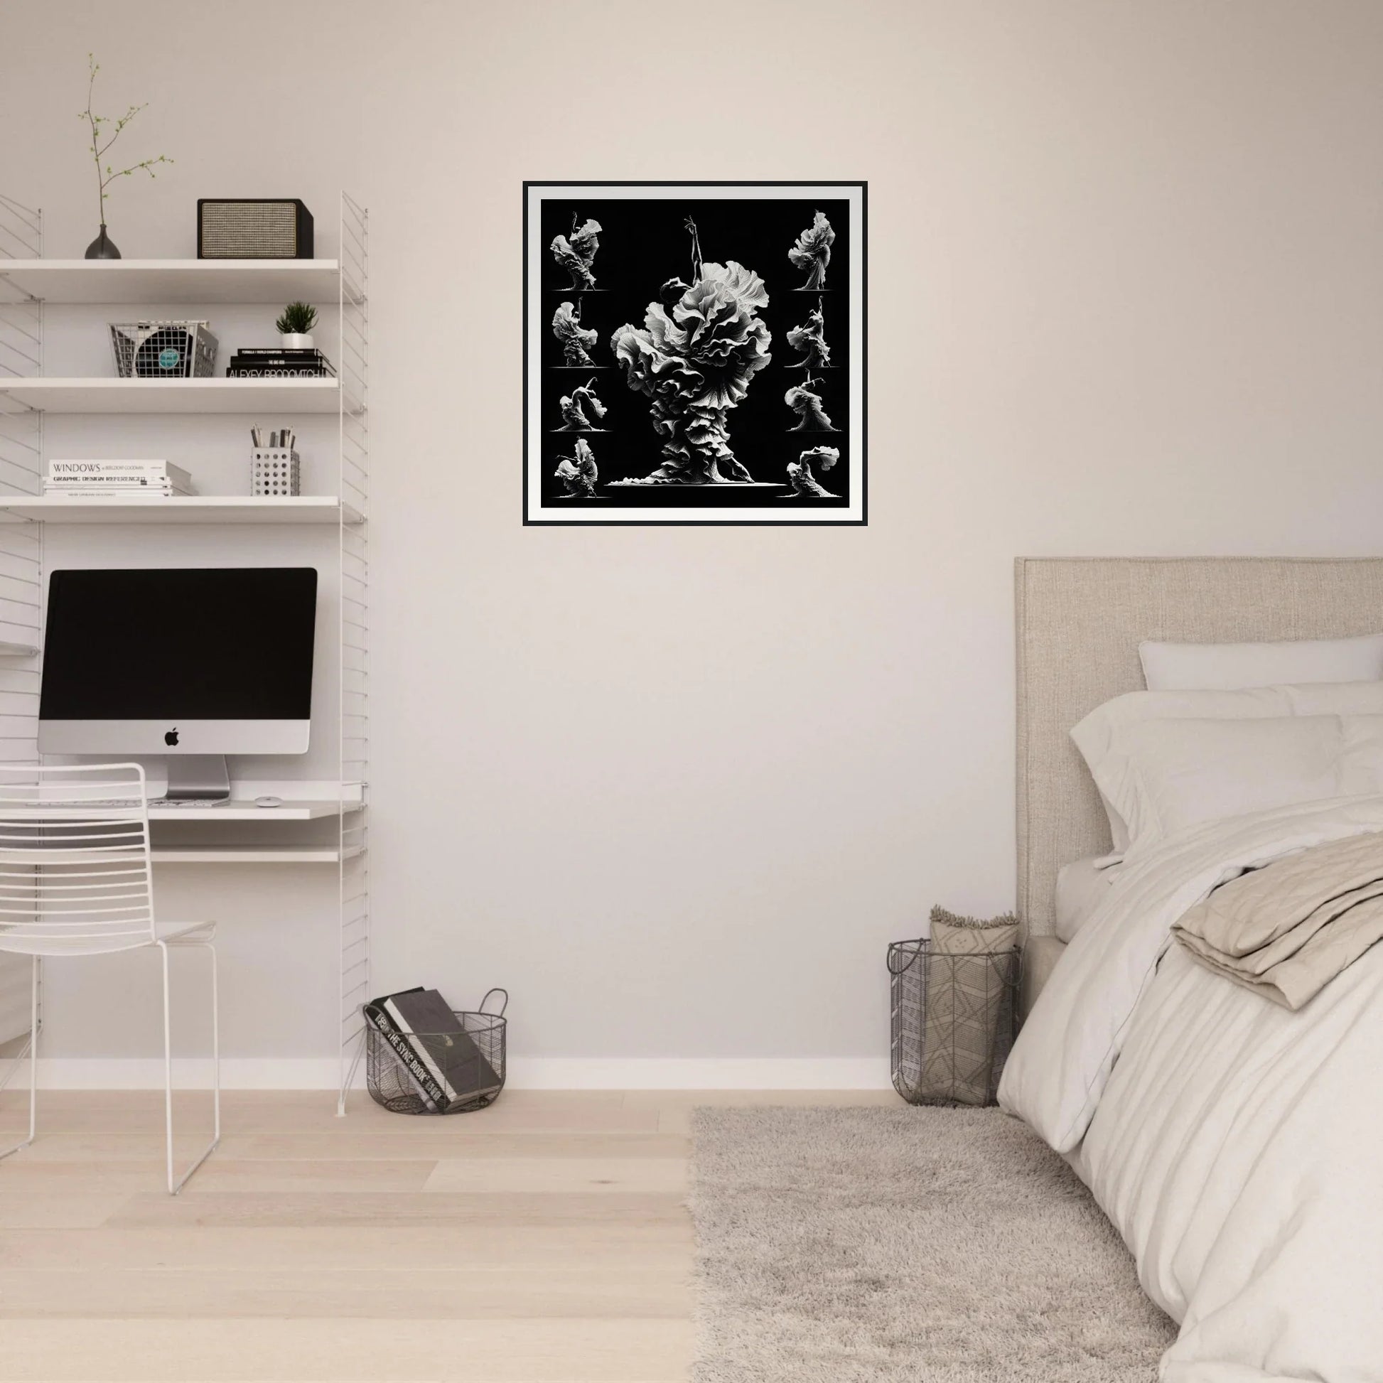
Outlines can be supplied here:
<path id="1" fill-rule="evenodd" d="M 1383 946 L 1294 1014 L 1169 949 L 1216 884 L 1361 831 L 1383 798 L 1127 863 L 1005 1068 L 1000 1104 L 1069 1158 L 1181 1322 L 1164 1383 L 1383 1383 Z"/>

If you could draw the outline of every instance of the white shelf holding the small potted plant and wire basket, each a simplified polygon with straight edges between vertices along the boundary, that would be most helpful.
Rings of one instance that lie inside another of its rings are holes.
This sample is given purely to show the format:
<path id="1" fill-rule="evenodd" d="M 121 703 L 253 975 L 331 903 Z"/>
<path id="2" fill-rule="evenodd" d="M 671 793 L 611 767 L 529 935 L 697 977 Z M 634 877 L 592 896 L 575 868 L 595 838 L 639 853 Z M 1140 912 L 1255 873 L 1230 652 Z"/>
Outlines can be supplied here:
<path id="1" fill-rule="evenodd" d="M 50 414 L 335 414 L 335 379 L 0 379 L 0 398 Z"/>

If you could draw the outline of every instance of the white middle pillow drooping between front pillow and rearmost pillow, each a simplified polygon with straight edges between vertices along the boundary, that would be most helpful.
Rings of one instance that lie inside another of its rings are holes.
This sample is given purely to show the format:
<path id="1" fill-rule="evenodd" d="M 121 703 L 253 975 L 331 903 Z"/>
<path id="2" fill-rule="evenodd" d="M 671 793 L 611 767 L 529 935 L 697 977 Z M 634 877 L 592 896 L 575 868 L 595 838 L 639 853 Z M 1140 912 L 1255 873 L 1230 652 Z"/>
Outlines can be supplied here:
<path id="1" fill-rule="evenodd" d="M 1383 682 L 1317 682 L 1239 692 L 1127 692 L 1095 707 L 1072 732 L 1109 817 L 1113 857 L 1129 848 L 1129 826 L 1105 792 L 1102 765 L 1115 740 L 1145 721 L 1247 721 L 1285 715 L 1383 715 Z"/>

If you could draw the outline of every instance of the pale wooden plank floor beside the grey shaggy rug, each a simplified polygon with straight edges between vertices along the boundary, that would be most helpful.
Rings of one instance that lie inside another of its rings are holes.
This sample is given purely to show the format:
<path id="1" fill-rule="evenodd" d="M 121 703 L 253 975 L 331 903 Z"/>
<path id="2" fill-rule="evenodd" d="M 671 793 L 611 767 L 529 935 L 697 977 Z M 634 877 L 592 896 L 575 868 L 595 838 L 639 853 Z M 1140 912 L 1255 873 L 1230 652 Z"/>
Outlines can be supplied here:
<path id="1" fill-rule="evenodd" d="M 0 1147 L 24 1099 L 0 1095 Z M 411 1119 L 360 1094 L 337 1119 L 319 1091 L 232 1093 L 173 1199 L 162 1095 L 40 1095 L 39 1140 L 0 1162 L 0 1379 L 674 1383 L 692 1108 L 895 1099 L 506 1091 Z"/>

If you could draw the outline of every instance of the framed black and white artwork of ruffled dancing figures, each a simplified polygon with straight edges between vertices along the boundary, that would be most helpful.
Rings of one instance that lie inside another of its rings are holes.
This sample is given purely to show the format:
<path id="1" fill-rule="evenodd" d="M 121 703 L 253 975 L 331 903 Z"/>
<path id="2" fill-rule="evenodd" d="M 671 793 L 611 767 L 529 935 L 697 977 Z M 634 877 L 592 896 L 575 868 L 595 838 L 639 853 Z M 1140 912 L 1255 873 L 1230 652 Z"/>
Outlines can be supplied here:
<path id="1" fill-rule="evenodd" d="M 866 184 L 524 184 L 524 523 L 866 521 Z"/>

